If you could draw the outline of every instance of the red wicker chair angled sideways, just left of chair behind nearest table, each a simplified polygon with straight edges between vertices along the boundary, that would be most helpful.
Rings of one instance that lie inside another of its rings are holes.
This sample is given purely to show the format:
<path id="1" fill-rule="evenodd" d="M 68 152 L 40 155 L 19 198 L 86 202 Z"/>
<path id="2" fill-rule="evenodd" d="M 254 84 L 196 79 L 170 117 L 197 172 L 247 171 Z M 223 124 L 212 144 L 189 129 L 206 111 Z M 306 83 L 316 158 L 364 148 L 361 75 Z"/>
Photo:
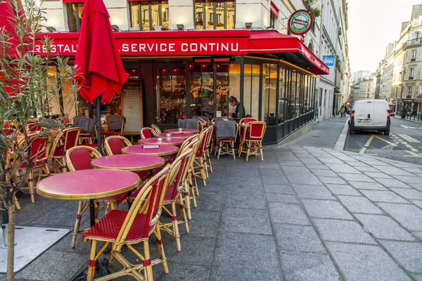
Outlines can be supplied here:
<path id="1" fill-rule="evenodd" d="M 57 133 L 56 138 L 53 141 L 49 159 L 55 173 L 58 173 L 60 169 L 63 173 L 67 171 L 66 152 L 70 148 L 78 145 L 80 131 L 81 128 L 70 127 Z"/>

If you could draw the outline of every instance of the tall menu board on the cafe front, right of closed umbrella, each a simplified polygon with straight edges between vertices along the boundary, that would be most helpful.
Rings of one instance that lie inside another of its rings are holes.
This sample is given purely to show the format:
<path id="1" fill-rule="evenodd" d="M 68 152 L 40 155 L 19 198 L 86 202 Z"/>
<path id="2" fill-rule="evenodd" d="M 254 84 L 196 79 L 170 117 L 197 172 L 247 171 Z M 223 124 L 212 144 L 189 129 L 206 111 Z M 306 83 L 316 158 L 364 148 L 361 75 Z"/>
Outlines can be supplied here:
<path id="1" fill-rule="evenodd" d="M 139 132 L 142 128 L 141 81 L 127 81 L 122 87 L 122 114 L 126 118 L 124 132 Z"/>

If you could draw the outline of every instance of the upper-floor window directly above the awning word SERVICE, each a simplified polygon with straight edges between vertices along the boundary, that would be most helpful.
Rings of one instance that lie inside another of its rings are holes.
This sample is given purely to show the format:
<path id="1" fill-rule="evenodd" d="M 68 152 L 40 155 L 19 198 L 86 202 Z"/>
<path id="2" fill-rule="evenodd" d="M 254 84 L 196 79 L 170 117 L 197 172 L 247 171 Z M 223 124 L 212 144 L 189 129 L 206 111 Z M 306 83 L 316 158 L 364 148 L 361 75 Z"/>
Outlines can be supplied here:
<path id="1" fill-rule="evenodd" d="M 169 4 L 168 1 L 130 2 L 130 27 L 139 30 L 168 30 Z"/>

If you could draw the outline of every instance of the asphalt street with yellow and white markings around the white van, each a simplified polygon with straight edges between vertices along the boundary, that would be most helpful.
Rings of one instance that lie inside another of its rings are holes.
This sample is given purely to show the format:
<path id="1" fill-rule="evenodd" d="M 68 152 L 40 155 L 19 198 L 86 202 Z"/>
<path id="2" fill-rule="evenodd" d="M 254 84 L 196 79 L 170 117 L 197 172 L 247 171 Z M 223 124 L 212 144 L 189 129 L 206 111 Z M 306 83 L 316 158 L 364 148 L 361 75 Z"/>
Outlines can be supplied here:
<path id="1" fill-rule="evenodd" d="M 390 136 L 378 131 L 349 134 L 345 150 L 422 165 L 422 123 L 392 117 Z"/>

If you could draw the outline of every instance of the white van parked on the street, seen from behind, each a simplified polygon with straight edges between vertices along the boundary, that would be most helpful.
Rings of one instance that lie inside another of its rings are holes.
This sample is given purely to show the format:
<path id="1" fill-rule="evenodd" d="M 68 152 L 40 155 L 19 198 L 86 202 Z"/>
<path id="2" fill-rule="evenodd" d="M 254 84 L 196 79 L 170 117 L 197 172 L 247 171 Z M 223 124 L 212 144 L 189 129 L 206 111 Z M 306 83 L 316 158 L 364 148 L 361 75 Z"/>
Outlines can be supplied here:
<path id="1" fill-rule="evenodd" d="M 390 107 L 386 100 L 357 100 L 352 105 L 349 130 L 383 131 L 390 134 Z"/>

